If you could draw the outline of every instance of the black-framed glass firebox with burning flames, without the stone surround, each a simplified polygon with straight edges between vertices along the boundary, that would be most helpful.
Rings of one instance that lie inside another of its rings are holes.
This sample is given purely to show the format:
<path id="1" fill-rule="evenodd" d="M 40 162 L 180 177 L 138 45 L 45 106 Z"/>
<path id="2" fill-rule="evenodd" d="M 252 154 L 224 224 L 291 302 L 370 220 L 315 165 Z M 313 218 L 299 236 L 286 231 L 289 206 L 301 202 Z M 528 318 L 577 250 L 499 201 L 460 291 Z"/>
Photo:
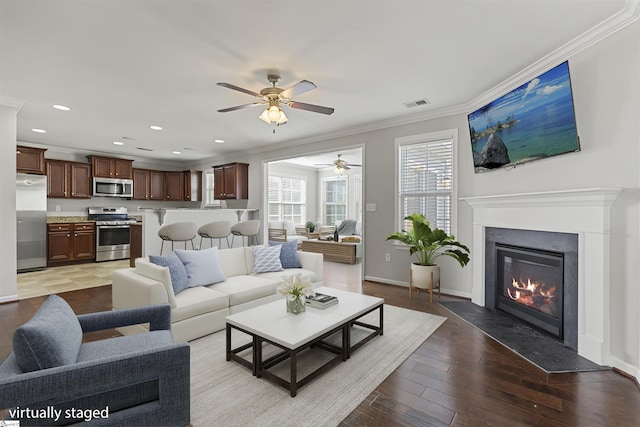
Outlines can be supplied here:
<path id="1" fill-rule="evenodd" d="M 564 254 L 496 244 L 496 310 L 562 339 Z"/>

